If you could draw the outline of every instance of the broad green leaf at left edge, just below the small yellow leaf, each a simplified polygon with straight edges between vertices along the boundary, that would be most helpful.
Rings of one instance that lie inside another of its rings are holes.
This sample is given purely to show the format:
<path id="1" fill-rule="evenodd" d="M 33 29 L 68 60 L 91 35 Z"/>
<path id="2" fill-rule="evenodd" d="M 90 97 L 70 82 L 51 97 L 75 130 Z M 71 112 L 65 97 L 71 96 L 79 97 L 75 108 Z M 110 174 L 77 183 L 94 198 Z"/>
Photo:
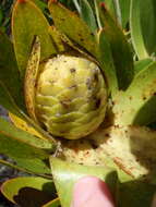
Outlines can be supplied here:
<path id="1" fill-rule="evenodd" d="M 0 153 L 14 159 L 19 166 L 33 172 L 49 173 L 44 160 L 48 159 L 52 145 L 27 132 L 16 129 L 0 118 Z"/>

